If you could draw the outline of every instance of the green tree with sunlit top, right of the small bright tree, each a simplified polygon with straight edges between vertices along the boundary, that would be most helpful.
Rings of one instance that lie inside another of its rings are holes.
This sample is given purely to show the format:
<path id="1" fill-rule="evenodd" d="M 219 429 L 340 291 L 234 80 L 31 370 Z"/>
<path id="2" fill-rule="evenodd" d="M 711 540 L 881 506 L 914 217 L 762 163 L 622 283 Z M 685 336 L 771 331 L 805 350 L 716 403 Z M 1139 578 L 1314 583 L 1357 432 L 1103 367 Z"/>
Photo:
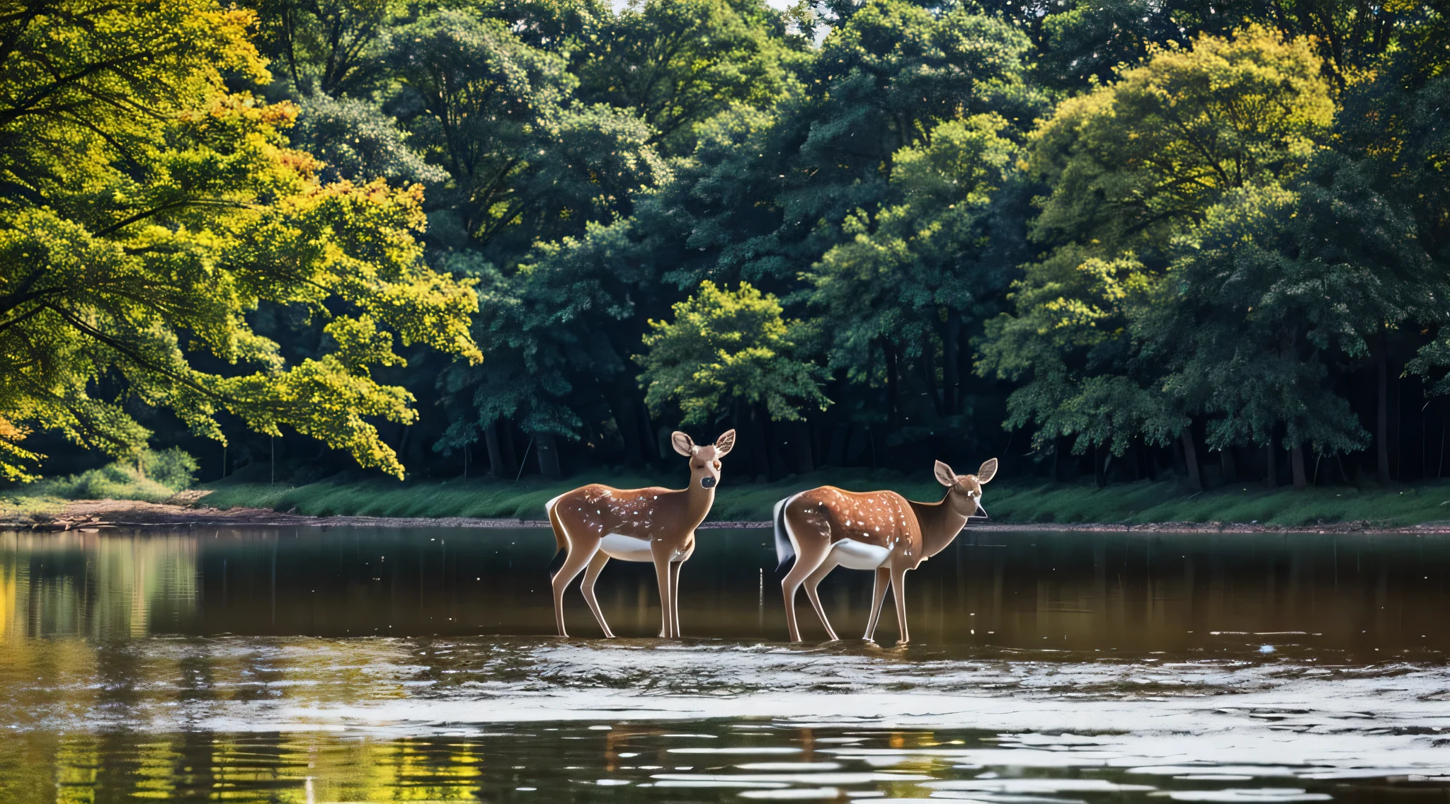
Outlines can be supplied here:
<path id="1" fill-rule="evenodd" d="M 898 361 L 921 359 L 938 417 L 958 413 L 963 329 L 1000 311 L 996 300 L 1022 254 L 999 193 L 1016 181 L 1006 120 L 979 114 L 935 126 L 893 156 L 892 196 L 876 216 L 847 219 L 851 240 L 803 278 L 829 333 L 831 365 L 858 381 L 884 362 L 887 406 L 899 404 Z M 1008 194 L 1011 196 L 1011 193 Z M 877 351 L 884 351 L 879 361 Z M 935 352 L 941 352 L 941 388 Z"/>

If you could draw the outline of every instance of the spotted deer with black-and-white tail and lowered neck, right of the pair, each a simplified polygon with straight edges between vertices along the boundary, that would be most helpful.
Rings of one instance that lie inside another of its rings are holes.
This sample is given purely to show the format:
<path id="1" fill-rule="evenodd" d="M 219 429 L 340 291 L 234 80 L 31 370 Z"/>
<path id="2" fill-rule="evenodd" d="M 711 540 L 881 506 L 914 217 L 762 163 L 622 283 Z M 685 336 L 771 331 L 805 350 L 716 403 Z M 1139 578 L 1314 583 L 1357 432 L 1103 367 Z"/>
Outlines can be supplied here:
<path id="1" fill-rule="evenodd" d="M 876 571 L 867 642 L 874 640 L 882 601 L 890 584 L 896 601 L 898 645 L 911 640 L 906 630 L 906 571 L 940 553 L 961 532 L 967 520 L 989 519 L 982 507 L 982 487 L 996 475 L 998 461 L 982 464 L 974 475 L 958 475 L 937 461 L 937 482 L 947 487 L 938 503 L 916 503 L 895 491 L 844 491 L 822 485 L 776 503 L 776 556 L 780 566 L 795 556 L 780 588 L 786 595 L 786 626 L 790 642 L 800 642 L 796 624 L 796 591 L 805 585 L 811 607 L 831 640 L 840 639 L 825 616 L 816 585 L 837 566 Z"/>

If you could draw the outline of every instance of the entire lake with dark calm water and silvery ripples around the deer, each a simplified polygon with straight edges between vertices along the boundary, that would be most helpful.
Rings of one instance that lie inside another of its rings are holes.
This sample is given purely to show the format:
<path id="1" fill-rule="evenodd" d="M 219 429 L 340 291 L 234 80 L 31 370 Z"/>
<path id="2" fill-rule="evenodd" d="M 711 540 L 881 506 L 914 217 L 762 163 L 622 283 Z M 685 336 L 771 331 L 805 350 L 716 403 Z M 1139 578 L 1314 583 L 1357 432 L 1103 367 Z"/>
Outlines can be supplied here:
<path id="1" fill-rule="evenodd" d="M 622 562 L 552 636 L 539 529 L 0 533 L 0 801 L 1450 794 L 1450 537 L 969 532 L 908 648 L 784 643 L 771 545 L 702 530 L 661 642 Z"/>

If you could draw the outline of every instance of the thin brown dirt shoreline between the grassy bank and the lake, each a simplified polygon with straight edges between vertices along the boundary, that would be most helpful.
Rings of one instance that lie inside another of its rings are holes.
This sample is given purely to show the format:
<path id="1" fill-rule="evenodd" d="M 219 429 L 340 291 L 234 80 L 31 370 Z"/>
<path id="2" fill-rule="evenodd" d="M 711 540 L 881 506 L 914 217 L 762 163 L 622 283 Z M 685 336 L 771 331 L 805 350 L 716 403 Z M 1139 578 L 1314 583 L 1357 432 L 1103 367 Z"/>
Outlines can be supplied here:
<path id="1" fill-rule="evenodd" d="M 178 495 L 181 497 L 181 495 Z M 548 527 L 548 520 L 483 517 L 370 517 L 306 516 L 270 508 L 212 508 L 196 506 L 197 497 L 167 503 L 138 500 L 74 500 L 54 516 L 33 516 L 0 523 L 0 530 L 99 532 L 133 527 Z M 770 522 L 705 522 L 700 529 L 770 529 Z M 1450 522 L 1385 527 L 1370 522 L 1340 522 L 1311 526 L 1259 523 L 1159 522 L 1146 524 L 1116 523 L 982 523 L 967 530 L 986 533 L 1360 533 L 1360 535 L 1450 535 Z"/>

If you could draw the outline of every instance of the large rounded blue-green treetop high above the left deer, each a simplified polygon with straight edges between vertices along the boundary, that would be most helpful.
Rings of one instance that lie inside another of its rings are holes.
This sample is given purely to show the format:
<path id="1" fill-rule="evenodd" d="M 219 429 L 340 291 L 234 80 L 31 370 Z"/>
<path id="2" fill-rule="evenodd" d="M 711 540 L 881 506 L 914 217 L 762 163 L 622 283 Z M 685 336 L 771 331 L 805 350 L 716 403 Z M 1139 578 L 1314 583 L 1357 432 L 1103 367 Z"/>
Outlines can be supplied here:
<path id="1" fill-rule="evenodd" d="M 629 213 L 667 171 L 626 112 L 574 103 L 566 61 L 502 20 L 439 10 L 393 36 L 416 146 L 451 180 L 429 200 L 442 245 L 518 259 L 538 240 Z"/>

